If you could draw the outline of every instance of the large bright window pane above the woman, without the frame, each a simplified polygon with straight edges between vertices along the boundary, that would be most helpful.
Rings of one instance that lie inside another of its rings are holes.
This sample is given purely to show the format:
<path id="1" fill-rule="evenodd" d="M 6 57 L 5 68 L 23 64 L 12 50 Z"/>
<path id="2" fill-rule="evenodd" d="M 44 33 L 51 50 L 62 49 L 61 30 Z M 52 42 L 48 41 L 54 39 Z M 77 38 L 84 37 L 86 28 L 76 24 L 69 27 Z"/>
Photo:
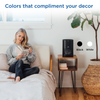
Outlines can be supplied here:
<path id="1" fill-rule="evenodd" d="M 7 12 L 7 21 L 33 21 L 33 22 L 44 22 L 45 21 L 45 11 L 44 10 L 21 10 L 19 11 L 9 11 Z"/>

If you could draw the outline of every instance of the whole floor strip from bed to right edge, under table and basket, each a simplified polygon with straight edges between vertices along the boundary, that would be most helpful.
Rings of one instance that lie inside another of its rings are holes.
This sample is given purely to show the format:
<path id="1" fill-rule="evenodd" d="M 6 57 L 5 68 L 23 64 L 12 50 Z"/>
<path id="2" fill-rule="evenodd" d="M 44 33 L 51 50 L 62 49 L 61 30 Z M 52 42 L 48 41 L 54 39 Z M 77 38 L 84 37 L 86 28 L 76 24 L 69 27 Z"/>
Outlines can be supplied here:
<path id="1" fill-rule="evenodd" d="M 62 88 L 61 96 L 59 96 L 59 89 L 56 89 L 56 100 L 100 100 L 100 96 L 92 96 L 85 92 L 83 88 L 76 88 L 74 93 L 73 88 Z"/>

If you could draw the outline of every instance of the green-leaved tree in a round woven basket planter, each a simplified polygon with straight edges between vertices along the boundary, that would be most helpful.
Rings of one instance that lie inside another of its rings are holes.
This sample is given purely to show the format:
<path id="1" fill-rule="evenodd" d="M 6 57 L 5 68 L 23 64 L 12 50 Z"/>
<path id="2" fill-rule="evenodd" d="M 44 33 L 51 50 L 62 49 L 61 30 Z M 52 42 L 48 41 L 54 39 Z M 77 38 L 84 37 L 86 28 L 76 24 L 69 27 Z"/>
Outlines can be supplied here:
<path id="1" fill-rule="evenodd" d="M 91 16 L 91 19 L 88 18 L 88 14 Z M 84 16 L 84 17 L 83 17 Z M 94 16 L 96 16 L 97 27 L 94 23 Z M 87 21 L 88 24 L 94 29 L 95 32 L 95 41 L 96 41 L 96 58 L 90 59 L 88 68 L 83 73 L 81 81 L 85 91 L 91 95 L 100 95 L 100 59 L 98 59 L 98 38 L 97 31 L 99 29 L 99 16 L 100 13 L 85 13 L 85 12 L 74 12 L 67 19 L 73 19 L 71 23 L 72 28 L 77 28 L 81 26 L 83 30 L 83 25 Z"/>

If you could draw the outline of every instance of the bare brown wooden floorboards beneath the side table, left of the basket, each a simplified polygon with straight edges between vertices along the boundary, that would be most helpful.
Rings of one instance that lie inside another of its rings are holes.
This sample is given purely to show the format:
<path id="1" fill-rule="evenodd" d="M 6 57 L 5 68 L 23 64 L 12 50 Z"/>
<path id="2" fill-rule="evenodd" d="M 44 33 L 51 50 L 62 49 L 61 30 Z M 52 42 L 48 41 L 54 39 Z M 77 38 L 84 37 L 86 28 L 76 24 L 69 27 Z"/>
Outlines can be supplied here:
<path id="1" fill-rule="evenodd" d="M 83 88 L 77 88 L 74 93 L 73 88 L 62 88 L 61 96 L 59 96 L 59 89 L 56 89 L 56 100 L 85 100 Z"/>

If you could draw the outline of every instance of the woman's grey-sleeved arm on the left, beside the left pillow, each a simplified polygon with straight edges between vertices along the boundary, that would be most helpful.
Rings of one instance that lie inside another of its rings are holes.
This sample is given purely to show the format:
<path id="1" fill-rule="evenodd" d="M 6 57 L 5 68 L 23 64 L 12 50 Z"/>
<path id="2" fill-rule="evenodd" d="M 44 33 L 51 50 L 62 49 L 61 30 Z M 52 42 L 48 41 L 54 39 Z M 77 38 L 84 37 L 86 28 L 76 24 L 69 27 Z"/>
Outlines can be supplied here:
<path id="1" fill-rule="evenodd" d="M 8 49 L 6 51 L 6 55 L 7 55 L 8 65 L 12 65 L 14 62 L 17 61 L 17 59 L 12 56 L 12 47 L 11 46 L 8 47 Z"/>

